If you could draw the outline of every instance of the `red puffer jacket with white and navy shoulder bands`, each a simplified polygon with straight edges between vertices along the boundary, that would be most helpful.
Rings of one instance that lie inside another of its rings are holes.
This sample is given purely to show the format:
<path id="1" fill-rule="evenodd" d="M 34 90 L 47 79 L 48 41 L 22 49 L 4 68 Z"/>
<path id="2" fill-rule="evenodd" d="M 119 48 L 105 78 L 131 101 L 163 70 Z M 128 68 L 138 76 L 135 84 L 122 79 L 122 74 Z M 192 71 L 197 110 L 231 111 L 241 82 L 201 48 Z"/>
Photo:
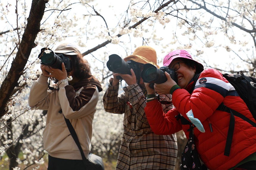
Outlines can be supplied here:
<path id="1" fill-rule="evenodd" d="M 145 113 L 150 127 L 155 134 L 167 135 L 180 130 L 188 138 L 189 125 L 182 125 L 175 116 L 182 115 L 187 120 L 186 113 L 192 109 L 195 118 L 202 123 L 205 133 L 194 129 L 194 140 L 200 159 L 211 170 L 227 170 L 237 165 L 247 156 L 256 152 L 256 128 L 240 117 L 235 117 L 230 155 L 224 155 L 227 140 L 230 113 L 216 110 L 223 102 L 227 107 L 236 110 L 256 123 L 244 101 L 234 93 L 234 88 L 215 69 L 205 69 L 195 82 L 187 89 L 177 89 L 172 95 L 175 108 L 164 114 L 159 101 L 153 100 L 146 104 Z M 210 129 L 212 127 L 212 131 Z"/>

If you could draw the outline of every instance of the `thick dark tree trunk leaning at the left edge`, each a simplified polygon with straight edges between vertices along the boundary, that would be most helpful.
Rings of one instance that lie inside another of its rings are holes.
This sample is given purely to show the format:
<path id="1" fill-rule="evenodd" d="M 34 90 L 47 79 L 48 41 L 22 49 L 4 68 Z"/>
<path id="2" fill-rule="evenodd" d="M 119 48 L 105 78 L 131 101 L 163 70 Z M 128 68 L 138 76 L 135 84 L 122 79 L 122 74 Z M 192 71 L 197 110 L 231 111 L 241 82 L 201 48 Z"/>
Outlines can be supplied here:
<path id="1" fill-rule="evenodd" d="M 48 0 L 32 0 L 28 22 L 18 45 L 18 52 L 0 88 L 0 118 L 6 113 L 6 106 L 13 89 L 18 85 L 18 80 L 23 74 L 22 71 L 26 66 L 31 50 L 35 47 L 35 38 L 40 31 L 40 21 L 43 18 L 47 2 Z"/>

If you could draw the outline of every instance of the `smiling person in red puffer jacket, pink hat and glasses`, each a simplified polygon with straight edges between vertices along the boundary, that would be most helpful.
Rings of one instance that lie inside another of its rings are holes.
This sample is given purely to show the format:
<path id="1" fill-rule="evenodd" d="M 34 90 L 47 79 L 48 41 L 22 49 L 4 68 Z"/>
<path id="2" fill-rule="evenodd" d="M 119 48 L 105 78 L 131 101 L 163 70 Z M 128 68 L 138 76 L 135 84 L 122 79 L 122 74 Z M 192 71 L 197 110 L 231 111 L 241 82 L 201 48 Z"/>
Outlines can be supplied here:
<path id="1" fill-rule="evenodd" d="M 145 83 L 148 95 L 172 94 L 175 108 L 163 113 L 160 102 L 153 99 L 144 108 L 150 127 L 155 134 L 168 135 L 180 130 L 189 136 L 193 123 L 194 141 L 202 162 L 211 170 L 256 169 L 256 128 L 235 116 L 235 127 L 229 155 L 224 155 L 230 124 L 230 113 L 218 110 L 223 103 L 245 115 L 254 123 L 251 112 L 234 87 L 216 69 L 204 69 L 185 50 L 174 50 L 165 56 L 163 65 L 174 69 L 178 84 L 165 72 L 167 81 Z M 177 117 L 181 117 L 180 119 Z"/>

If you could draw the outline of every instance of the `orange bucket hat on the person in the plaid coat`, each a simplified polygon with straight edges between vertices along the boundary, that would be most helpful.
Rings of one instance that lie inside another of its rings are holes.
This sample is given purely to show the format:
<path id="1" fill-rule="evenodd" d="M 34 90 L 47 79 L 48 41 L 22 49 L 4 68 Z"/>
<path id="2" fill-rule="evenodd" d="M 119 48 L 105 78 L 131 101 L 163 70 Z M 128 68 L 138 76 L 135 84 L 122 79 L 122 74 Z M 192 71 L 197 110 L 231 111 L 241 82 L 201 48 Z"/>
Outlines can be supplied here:
<path id="1" fill-rule="evenodd" d="M 142 64 L 150 63 L 159 68 L 159 66 L 157 65 L 157 53 L 154 48 L 149 46 L 143 45 L 136 48 L 132 55 L 124 58 L 124 61 L 126 62 L 129 60 Z"/>

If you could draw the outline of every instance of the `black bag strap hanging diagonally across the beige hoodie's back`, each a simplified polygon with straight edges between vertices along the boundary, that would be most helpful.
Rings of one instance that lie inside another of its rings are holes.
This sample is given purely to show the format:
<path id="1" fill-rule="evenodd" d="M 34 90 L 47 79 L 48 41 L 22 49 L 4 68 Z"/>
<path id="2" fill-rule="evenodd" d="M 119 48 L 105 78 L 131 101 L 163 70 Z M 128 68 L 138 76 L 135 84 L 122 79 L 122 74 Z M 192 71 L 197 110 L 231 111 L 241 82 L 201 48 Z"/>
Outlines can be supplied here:
<path id="1" fill-rule="evenodd" d="M 63 114 L 63 116 L 64 116 L 64 114 Z M 68 126 L 68 130 L 70 131 L 71 136 L 73 137 L 74 141 L 77 144 L 78 149 L 80 150 L 80 153 L 82 155 L 83 163 L 84 163 L 85 167 L 87 167 L 88 163 L 89 163 L 89 160 L 86 159 L 86 157 L 85 157 L 85 154 L 84 154 L 84 152 L 82 150 L 82 147 L 81 147 L 81 145 L 79 143 L 79 140 L 78 140 L 78 137 L 77 137 L 77 133 L 76 133 L 75 129 L 73 128 L 73 126 L 71 125 L 71 122 L 65 116 L 64 116 L 64 119 L 66 121 L 66 124 Z"/>

